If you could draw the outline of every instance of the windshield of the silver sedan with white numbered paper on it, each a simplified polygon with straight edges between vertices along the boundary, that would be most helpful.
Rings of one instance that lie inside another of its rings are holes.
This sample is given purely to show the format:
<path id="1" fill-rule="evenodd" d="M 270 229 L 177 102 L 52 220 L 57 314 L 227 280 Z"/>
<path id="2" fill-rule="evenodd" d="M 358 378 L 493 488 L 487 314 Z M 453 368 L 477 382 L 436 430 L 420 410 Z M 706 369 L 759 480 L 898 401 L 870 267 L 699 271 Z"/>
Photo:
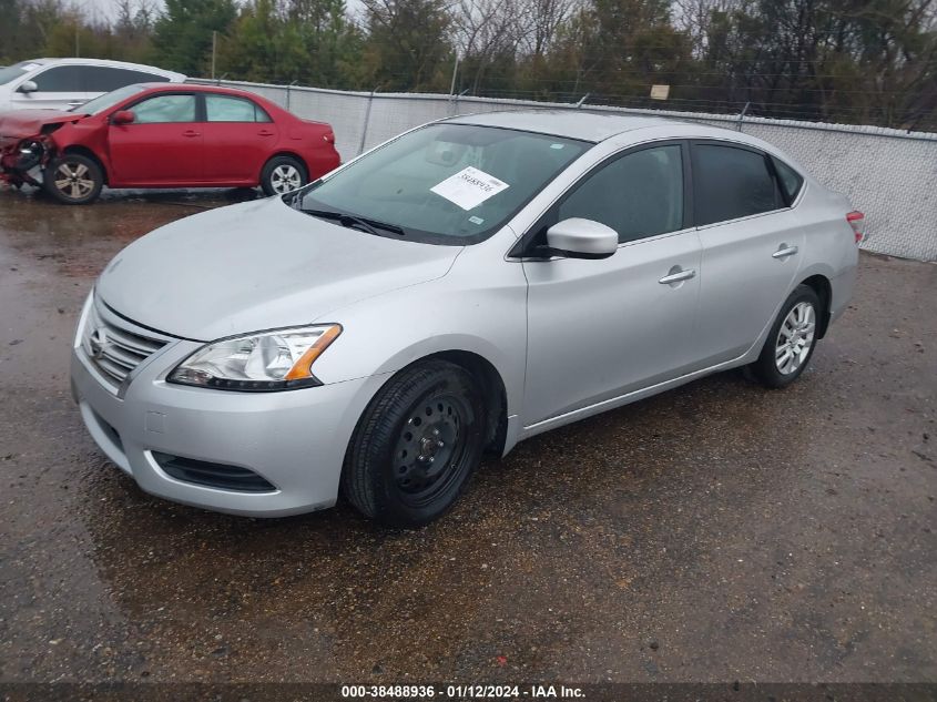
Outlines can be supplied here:
<path id="1" fill-rule="evenodd" d="M 381 236 L 472 244 L 493 234 L 590 146 L 509 129 L 431 124 L 285 200 L 313 216 Z"/>

